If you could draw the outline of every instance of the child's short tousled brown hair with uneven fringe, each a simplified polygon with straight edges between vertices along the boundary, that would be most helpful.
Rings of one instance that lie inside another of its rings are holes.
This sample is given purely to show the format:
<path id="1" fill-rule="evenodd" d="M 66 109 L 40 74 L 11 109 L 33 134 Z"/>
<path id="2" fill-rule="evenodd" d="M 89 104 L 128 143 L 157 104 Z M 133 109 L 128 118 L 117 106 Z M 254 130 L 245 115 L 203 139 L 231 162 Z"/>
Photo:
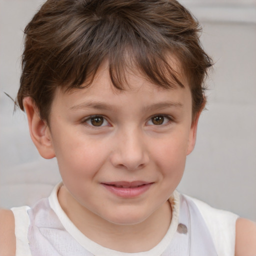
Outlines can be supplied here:
<path id="1" fill-rule="evenodd" d="M 202 84 L 212 64 L 199 32 L 176 0 L 47 0 L 24 30 L 18 105 L 24 110 L 23 98 L 30 96 L 47 121 L 56 86 L 79 88 L 88 77 L 92 81 L 104 59 L 119 89 L 127 67 L 159 86 L 173 87 L 173 79 L 183 86 L 168 64 L 170 52 L 189 82 L 194 114 L 202 107 Z"/>

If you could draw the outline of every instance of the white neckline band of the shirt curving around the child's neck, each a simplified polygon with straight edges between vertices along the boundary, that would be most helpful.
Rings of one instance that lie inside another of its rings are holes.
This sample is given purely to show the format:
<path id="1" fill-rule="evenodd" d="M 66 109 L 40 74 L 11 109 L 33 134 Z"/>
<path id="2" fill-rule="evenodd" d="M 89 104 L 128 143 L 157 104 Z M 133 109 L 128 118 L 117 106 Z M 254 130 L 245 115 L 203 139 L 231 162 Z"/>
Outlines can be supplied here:
<path id="1" fill-rule="evenodd" d="M 173 191 L 171 197 L 168 199 L 171 205 L 172 209 L 172 217 L 170 221 L 169 228 L 164 235 L 164 237 L 161 239 L 161 241 L 155 245 L 153 248 L 147 251 L 142 252 L 121 252 L 116 251 L 113 249 L 109 249 L 106 247 L 101 246 L 100 244 L 90 240 L 88 237 L 86 237 L 74 224 L 73 222 L 68 218 L 68 216 L 65 214 L 63 209 L 61 208 L 57 193 L 59 188 L 62 186 L 62 182 L 58 183 L 54 189 L 52 190 L 49 199 L 49 205 L 53 209 L 53 211 L 56 213 L 57 217 L 59 218 L 60 222 L 62 223 L 63 227 L 66 229 L 66 231 L 86 250 L 91 252 L 95 256 L 99 255 L 105 255 L 105 256 L 158 256 L 161 255 L 166 247 L 169 245 L 172 237 L 174 236 L 177 225 L 178 225 L 178 216 L 179 216 L 179 193 L 175 190 Z"/>

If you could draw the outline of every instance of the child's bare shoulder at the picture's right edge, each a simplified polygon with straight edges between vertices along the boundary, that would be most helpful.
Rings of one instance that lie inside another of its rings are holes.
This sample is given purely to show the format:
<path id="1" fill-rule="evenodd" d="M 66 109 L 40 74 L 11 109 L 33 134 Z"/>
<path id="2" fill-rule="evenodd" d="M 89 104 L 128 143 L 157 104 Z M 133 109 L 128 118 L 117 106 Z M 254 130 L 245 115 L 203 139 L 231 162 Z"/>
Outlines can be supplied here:
<path id="1" fill-rule="evenodd" d="M 256 223 L 245 218 L 236 221 L 235 256 L 256 255 Z"/>

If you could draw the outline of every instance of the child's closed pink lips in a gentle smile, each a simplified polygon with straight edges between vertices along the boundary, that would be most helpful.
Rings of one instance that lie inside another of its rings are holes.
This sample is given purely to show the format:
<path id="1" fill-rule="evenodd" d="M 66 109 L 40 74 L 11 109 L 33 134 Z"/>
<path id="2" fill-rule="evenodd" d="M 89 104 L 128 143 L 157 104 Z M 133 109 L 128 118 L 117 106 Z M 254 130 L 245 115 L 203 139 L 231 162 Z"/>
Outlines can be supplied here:
<path id="1" fill-rule="evenodd" d="M 117 195 L 118 197 L 131 198 L 143 194 L 153 182 L 145 181 L 117 181 L 101 183 L 108 191 Z"/>

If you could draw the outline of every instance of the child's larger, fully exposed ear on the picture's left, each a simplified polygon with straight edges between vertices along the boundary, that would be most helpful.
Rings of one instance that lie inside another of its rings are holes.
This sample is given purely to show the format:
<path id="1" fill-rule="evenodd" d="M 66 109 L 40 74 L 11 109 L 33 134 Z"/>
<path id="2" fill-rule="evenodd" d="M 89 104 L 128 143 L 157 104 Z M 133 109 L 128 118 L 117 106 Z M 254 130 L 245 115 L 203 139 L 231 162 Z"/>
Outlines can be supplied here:
<path id="1" fill-rule="evenodd" d="M 35 106 L 31 97 L 24 98 L 23 106 L 27 115 L 30 137 L 39 154 L 46 159 L 53 158 L 55 153 L 49 126 L 40 118 L 38 108 Z"/>

